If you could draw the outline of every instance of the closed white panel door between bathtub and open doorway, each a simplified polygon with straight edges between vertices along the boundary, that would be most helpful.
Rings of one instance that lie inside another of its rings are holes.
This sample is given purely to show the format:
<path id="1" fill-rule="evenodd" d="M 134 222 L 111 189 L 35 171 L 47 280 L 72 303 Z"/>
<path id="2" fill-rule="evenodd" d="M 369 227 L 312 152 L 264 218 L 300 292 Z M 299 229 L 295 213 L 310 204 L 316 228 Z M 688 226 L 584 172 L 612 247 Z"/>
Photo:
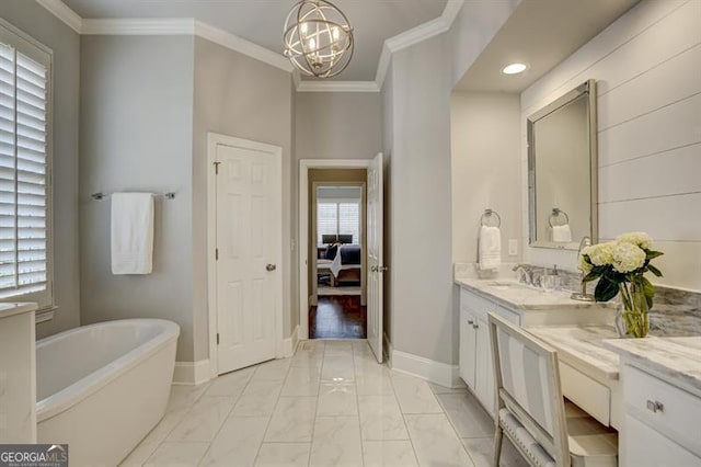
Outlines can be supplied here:
<path id="1" fill-rule="evenodd" d="M 216 149 L 218 373 L 275 357 L 281 303 L 276 155 Z"/>

